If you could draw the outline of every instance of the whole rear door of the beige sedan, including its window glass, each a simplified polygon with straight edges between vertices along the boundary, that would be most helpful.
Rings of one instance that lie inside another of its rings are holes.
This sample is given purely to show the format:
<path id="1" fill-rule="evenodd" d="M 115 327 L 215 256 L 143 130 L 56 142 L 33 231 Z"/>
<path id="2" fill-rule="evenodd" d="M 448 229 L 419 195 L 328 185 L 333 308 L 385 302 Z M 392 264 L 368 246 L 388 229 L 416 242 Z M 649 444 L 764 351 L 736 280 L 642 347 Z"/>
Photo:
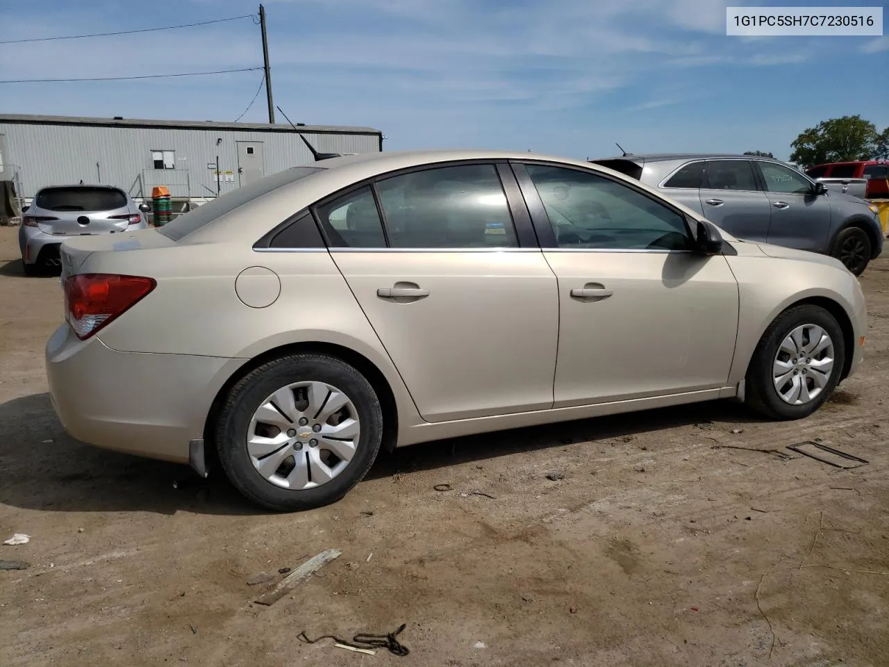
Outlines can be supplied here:
<path id="1" fill-rule="evenodd" d="M 519 246 L 494 165 L 392 176 L 316 214 L 425 420 L 552 406 L 556 277 Z"/>

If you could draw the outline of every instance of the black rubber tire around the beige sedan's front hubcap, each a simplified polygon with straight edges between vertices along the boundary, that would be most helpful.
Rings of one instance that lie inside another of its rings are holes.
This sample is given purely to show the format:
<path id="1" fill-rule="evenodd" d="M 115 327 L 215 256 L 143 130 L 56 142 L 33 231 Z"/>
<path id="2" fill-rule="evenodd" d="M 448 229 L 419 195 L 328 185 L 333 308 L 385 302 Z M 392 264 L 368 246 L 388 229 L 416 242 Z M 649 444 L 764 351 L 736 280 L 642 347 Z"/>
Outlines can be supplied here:
<path id="1" fill-rule="evenodd" d="M 775 389 L 773 364 L 781 342 L 800 325 L 819 325 L 826 331 L 834 347 L 834 364 L 829 380 L 821 393 L 800 406 L 785 402 Z M 789 308 L 775 317 L 759 339 L 747 370 L 745 403 L 765 416 L 780 421 L 802 419 L 813 414 L 837 387 L 845 364 L 845 340 L 837 319 L 820 306 L 803 305 Z"/>

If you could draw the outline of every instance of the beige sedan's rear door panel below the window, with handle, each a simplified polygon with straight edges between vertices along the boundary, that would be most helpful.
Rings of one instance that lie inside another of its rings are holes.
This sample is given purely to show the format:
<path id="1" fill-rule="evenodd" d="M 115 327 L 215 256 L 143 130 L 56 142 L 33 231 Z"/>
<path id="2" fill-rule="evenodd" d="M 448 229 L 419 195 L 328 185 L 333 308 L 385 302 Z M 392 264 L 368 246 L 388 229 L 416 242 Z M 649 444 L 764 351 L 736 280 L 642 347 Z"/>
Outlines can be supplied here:
<path id="1" fill-rule="evenodd" d="M 552 406 L 558 295 L 541 252 L 331 254 L 423 419 Z M 379 293 L 393 289 L 428 294 Z"/>

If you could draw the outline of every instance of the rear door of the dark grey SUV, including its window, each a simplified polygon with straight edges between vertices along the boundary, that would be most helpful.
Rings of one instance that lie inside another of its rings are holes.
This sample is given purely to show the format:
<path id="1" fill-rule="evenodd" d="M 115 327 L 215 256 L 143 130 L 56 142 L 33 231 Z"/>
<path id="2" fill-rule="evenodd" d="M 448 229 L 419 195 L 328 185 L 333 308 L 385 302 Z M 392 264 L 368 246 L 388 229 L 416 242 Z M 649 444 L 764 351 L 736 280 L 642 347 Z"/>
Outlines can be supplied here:
<path id="1" fill-rule="evenodd" d="M 704 215 L 729 234 L 749 241 L 768 237 L 771 205 L 749 160 L 708 160 L 699 194 Z"/>

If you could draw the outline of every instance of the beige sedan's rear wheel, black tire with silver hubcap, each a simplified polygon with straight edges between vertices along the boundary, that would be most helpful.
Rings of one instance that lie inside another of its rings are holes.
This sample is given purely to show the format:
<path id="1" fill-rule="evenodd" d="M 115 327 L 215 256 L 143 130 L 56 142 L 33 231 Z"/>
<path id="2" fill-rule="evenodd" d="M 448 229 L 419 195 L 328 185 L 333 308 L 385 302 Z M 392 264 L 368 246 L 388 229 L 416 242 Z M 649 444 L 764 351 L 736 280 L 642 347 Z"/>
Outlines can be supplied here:
<path id="1" fill-rule="evenodd" d="M 236 383 L 216 442 L 232 484 L 269 510 L 340 500 L 380 450 L 382 410 L 370 382 L 338 358 L 275 359 Z"/>

